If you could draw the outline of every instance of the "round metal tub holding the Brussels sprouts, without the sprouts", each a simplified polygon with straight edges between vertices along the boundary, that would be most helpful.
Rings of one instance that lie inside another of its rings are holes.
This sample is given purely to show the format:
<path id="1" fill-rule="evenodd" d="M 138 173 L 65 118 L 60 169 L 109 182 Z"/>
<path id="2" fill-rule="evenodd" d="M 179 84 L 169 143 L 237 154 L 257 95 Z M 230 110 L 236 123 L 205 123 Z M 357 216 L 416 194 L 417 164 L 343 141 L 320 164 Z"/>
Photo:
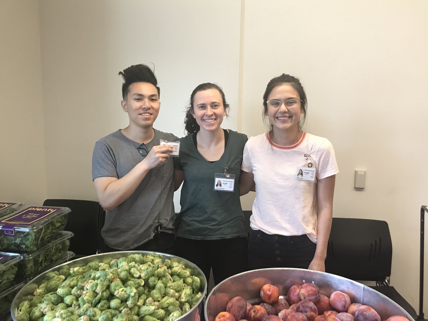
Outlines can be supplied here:
<path id="1" fill-rule="evenodd" d="M 119 259 L 124 256 L 129 256 L 131 254 L 150 254 L 153 252 L 149 251 L 120 251 L 120 252 L 111 252 L 111 253 L 101 253 L 101 254 L 95 254 L 91 256 L 86 256 L 81 259 L 76 259 L 70 262 L 63 263 L 61 265 L 58 265 L 54 268 L 51 268 L 50 270 L 47 270 L 46 272 L 39 274 L 34 279 L 32 279 L 30 282 L 28 282 L 26 285 L 24 285 L 23 288 L 16 294 L 15 298 L 12 301 L 12 305 L 10 307 L 10 314 L 12 315 L 12 319 L 14 321 L 17 321 L 15 318 L 15 311 L 18 309 L 19 304 L 24 301 L 28 300 L 28 296 L 33 294 L 34 290 L 39 287 L 40 284 L 42 284 L 43 280 L 45 279 L 45 274 L 52 271 L 59 271 L 64 265 L 68 265 L 70 267 L 76 267 L 76 266 L 84 266 L 87 265 L 89 262 L 96 261 L 96 262 L 102 262 L 105 258 L 112 258 L 112 259 Z M 186 268 L 190 268 L 192 273 L 201 279 L 201 288 L 203 288 L 202 291 L 202 299 L 199 300 L 199 302 L 190 309 L 189 312 L 178 318 L 177 320 L 180 321 L 199 321 L 200 320 L 200 314 L 202 312 L 204 301 L 205 301 L 205 295 L 207 293 L 207 279 L 202 273 L 202 270 L 198 268 L 195 264 L 193 264 L 190 261 L 187 261 L 186 259 L 180 258 L 178 256 L 173 256 L 166 253 L 159 253 L 156 252 L 156 254 L 160 254 L 162 256 L 163 262 L 165 259 L 169 259 L 171 261 L 178 261 L 181 262 Z"/>

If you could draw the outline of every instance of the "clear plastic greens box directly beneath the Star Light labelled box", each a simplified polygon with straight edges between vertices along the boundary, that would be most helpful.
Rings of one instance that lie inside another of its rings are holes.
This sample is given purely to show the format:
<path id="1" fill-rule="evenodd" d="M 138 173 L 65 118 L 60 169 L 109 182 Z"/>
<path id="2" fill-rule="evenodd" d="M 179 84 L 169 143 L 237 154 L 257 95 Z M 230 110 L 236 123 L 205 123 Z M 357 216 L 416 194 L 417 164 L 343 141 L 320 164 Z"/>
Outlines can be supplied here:
<path id="1" fill-rule="evenodd" d="M 16 278 L 19 280 L 31 279 L 49 266 L 52 265 L 53 267 L 60 264 L 57 262 L 67 255 L 68 247 L 70 247 L 70 238 L 73 235 L 72 232 L 68 231 L 59 232 L 58 235 L 39 250 L 31 254 L 22 254 L 22 260 L 17 264 L 18 271 Z"/>

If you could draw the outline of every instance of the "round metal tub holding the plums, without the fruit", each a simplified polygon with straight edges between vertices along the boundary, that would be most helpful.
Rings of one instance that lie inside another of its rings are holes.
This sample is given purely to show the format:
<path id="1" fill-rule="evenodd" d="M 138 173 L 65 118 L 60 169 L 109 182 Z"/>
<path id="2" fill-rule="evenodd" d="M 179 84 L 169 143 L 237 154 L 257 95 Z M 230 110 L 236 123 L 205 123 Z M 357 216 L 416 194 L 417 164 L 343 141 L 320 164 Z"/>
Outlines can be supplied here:
<path id="1" fill-rule="evenodd" d="M 251 304 L 262 302 L 260 289 L 266 283 L 279 288 L 280 297 L 285 297 L 288 289 L 295 284 L 312 282 L 320 289 L 320 294 L 330 297 L 334 291 L 349 295 L 352 303 L 371 306 L 386 320 L 392 315 L 413 318 L 397 303 L 366 285 L 330 273 L 292 269 L 270 268 L 252 270 L 231 276 L 215 286 L 205 300 L 205 320 L 213 321 L 216 315 L 226 311 L 226 305 L 233 297 L 241 296 Z"/>

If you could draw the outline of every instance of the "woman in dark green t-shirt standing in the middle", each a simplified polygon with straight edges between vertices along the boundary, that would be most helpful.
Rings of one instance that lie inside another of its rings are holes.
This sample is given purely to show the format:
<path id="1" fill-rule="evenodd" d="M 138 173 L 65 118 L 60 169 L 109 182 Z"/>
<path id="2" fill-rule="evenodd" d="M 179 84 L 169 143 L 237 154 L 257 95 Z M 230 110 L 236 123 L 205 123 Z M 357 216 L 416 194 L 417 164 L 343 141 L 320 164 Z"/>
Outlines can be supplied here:
<path id="1" fill-rule="evenodd" d="M 214 282 L 247 268 L 247 232 L 239 199 L 239 175 L 247 135 L 221 128 L 229 105 L 223 90 L 202 83 L 190 95 L 174 159 L 175 190 L 181 211 L 175 219 L 175 255 L 202 269 Z"/>

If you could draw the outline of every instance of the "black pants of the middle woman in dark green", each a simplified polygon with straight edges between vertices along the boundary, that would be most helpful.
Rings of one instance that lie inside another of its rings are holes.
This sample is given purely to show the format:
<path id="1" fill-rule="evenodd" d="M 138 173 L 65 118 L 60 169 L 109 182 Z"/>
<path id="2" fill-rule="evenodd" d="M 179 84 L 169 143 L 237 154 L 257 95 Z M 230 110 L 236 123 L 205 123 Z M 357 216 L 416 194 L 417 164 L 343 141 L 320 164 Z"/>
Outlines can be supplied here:
<path id="1" fill-rule="evenodd" d="M 196 264 L 207 278 L 213 270 L 214 283 L 247 270 L 247 237 L 220 240 L 175 239 L 176 256 Z M 208 286 L 208 284 L 207 284 Z"/>

